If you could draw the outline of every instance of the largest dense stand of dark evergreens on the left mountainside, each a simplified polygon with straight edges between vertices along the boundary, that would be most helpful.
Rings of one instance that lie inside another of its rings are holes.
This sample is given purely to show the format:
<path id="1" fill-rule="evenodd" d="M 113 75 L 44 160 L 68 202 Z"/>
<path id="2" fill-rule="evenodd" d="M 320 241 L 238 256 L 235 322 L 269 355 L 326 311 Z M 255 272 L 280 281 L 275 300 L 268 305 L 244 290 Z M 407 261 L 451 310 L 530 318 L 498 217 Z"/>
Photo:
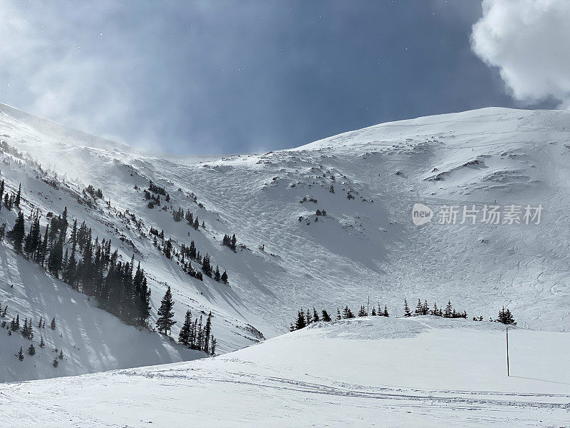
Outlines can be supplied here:
<path id="1" fill-rule="evenodd" d="M 78 227 L 75 220 L 67 240 L 67 214 L 67 208 L 62 215 L 48 213 L 46 217 L 50 222 L 42 234 L 36 210 L 31 213 L 26 234 L 24 213 L 20 211 L 14 228 L 6 235 L 12 240 L 16 253 L 23 253 L 74 290 L 96 297 L 101 309 L 129 325 L 147 325 L 150 289 L 140 263 L 135 270 L 134 255 L 130 263 L 121 262 L 110 240 L 93 240 L 93 231 L 85 222 Z"/>

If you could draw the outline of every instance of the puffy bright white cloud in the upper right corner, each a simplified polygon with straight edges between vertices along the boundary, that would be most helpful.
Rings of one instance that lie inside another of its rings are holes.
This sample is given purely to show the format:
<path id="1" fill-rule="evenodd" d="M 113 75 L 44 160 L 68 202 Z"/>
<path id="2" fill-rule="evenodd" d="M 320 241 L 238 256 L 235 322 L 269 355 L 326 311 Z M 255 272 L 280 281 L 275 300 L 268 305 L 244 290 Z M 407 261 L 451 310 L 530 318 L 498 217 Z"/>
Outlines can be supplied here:
<path id="1" fill-rule="evenodd" d="M 511 95 L 570 106 L 570 0 L 482 0 L 471 45 Z"/>

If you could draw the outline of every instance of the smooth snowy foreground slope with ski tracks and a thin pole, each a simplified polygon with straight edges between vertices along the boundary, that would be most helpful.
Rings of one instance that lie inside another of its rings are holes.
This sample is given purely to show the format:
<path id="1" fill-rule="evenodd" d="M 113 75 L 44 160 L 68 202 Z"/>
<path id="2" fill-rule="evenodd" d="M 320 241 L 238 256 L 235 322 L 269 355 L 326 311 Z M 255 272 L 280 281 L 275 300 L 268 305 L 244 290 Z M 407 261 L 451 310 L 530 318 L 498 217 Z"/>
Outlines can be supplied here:
<path id="1" fill-rule="evenodd" d="M 319 323 L 208 360 L 0 385 L 3 420 L 58 428 L 566 427 L 570 337 L 511 329 L 509 339 L 511 377 L 504 327 L 495 323 Z"/>

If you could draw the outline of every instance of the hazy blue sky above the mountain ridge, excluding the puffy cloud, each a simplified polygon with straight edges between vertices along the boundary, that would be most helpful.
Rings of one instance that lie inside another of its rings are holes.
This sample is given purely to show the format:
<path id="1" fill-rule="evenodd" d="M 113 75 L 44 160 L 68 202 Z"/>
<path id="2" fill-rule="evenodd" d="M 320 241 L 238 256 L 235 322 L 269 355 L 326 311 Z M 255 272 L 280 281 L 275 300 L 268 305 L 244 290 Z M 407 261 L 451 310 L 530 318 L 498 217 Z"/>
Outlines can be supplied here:
<path id="1" fill-rule="evenodd" d="M 522 106 L 472 53 L 475 0 L 1 1 L 0 101 L 133 146 L 268 151 Z"/>

